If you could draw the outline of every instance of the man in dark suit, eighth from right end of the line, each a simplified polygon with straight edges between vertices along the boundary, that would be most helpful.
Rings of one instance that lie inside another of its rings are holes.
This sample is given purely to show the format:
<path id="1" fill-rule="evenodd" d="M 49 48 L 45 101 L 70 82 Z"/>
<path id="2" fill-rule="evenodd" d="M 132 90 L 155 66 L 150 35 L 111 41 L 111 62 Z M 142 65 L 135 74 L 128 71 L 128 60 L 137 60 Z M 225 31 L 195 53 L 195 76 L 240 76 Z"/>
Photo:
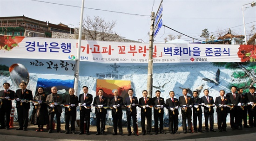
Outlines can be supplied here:
<path id="1" fill-rule="evenodd" d="M 174 98 L 174 91 L 169 92 L 170 98 L 166 100 L 166 108 L 168 109 L 169 114 L 169 133 L 170 134 L 180 134 L 178 132 L 178 124 L 179 124 L 179 101 L 177 98 Z"/>

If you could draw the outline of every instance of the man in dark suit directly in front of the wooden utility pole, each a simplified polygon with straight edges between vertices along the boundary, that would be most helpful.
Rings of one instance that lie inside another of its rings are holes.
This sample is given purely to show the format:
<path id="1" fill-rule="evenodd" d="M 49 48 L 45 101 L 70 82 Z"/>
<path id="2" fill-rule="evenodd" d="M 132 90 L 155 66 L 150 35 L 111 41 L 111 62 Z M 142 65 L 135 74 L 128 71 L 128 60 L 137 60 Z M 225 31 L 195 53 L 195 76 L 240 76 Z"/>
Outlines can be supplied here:
<path id="1" fill-rule="evenodd" d="M 148 91 L 143 90 L 142 91 L 143 97 L 139 99 L 139 105 L 141 108 L 141 132 L 142 135 L 146 134 L 146 129 L 145 129 L 145 122 L 147 118 L 147 134 L 152 135 L 151 132 L 151 121 L 152 121 L 152 108 L 149 106 L 151 105 L 151 98 L 148 97 Z"/>

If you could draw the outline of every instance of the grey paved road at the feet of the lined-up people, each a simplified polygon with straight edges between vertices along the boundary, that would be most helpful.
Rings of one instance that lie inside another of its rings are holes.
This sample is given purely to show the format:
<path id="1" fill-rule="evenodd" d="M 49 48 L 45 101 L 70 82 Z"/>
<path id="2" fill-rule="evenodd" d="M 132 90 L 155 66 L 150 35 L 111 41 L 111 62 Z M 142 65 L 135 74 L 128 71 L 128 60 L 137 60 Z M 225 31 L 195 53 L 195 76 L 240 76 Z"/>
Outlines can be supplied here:
<path id="1" fill-rule="evenodd" d="M 64 124 L 61 125 L 61 128 Z M 234 130 L 232 131 L 230 127 L 227 128 L 228 132 L 209 132 L 209 133 L 193 133 L 193 134 L 183 134 L 179 128 L 181 134 L 171 135 L 168 131 L 165 131 L 167 134 L 162 135 L 131 135 L 127 136 L 125 133 L 124 136 L 121 135 L 112 135 L 113 133 L 109 130 L 112 127 L 108 127 L 107 135 L 94 135 L 96 131 L 95 127 L 92 126 L 91 135 L 77 135 L 79 129 L 76 128 L 76 135 L 73 134 L 64 134 L 56 133 L 56 130 L 52 134 L 45 132 L 36 132 L 35 126 L 29 126 L 28 131 L 19 130 L 17 128 L 11 128 L 10 130 L 0 129 L 0 141 L 255 141 L 256 140 L 256 127 L 254 128 L 243 128 L 243 130 Z M 63 128 L 62 128 L 63 129 Z M 139 128 L 140 129 L 140 128 Z M 106 131 L 107 131 L 106 130 Z M 167 130 L 167 128 L 165 128 Z M 43 138 L 43 139 L 42 139 Z"/>

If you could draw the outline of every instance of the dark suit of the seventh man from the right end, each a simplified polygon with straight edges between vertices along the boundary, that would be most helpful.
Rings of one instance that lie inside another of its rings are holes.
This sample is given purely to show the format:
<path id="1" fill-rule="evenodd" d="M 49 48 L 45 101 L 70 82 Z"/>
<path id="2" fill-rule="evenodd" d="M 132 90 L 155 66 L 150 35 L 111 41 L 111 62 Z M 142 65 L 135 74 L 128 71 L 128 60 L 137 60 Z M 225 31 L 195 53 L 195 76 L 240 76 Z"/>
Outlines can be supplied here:
<path id="1" fill-rule="evenodd" d="M 187 96 L 187 101 L 188 103 L 186 103 L 185 97 L 184 96 L 180 96 L 179 97 L 179 103 L 180 106 L 186 105 L 194 105 L 191 96 Z M 192 116 L 192 109 L 190 107 L 186 108 L 187 110 L 182 110 L 182 128 L 183 128 L 183 132 L 192 132 L 191 131 L 191 116 Z M 187 128 L 187 120 L 188 120 L 188 128 Z"/>

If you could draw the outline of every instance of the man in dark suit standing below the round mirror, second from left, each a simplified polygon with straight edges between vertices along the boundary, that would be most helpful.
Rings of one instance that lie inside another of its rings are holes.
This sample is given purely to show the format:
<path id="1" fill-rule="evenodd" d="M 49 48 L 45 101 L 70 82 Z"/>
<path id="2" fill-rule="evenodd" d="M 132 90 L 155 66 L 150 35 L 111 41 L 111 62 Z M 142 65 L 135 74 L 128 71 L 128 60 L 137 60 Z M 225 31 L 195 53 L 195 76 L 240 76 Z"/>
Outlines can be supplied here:
<path id="1" fill-rule="evenodd" d="M 28 111 L 30 109 L 30 101 L 33 99 L 33 94 L 31 90 L 27 90 L 27 83 L 21 82 L 20 88 L 16 90 L 14 98 L 16 99 L 16 109 L 18 115 L 19 128 L 16 130 L 27 131 L 28 125 Z"/>

